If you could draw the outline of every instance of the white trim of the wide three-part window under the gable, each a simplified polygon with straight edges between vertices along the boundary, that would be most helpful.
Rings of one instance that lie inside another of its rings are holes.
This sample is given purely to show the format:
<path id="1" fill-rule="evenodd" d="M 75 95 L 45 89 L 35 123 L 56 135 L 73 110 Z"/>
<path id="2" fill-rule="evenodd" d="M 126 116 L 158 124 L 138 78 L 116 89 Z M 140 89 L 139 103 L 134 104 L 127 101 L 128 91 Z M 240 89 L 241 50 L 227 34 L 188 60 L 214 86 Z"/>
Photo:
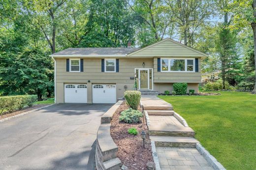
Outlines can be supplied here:
<path id="1" fill-rule="evenodd" d="M 162 59 L 168 59 L 168 71 L 162 71 Z M 171 67 L 170 67 L 171 59 L 176 59 L 176 60 L 183 59 L 183 60 L 185 60 L 185 71 L 171 71 Z M 193 71 L 188 71 L 188 60 L 193 60 Z M 160 58 L 160 72 L 162 72 L 162 73 L 195 73 L 195 58 L 162 57 L 162 58 Z"/>

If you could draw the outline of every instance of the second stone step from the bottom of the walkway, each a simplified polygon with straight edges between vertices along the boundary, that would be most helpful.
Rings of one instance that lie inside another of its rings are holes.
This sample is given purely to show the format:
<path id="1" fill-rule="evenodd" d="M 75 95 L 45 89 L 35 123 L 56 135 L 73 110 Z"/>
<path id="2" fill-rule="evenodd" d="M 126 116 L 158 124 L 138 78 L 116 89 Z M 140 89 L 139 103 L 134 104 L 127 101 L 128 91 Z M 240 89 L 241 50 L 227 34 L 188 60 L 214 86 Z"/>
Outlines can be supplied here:
<path id="1" fill-rule="evenodd" d="M 194 137 L 194 131 L 190 127 L 177 126 L 174 124 L 151 124 L 148 126 L 151 136 L 175 136 L 175 137 Z"/>

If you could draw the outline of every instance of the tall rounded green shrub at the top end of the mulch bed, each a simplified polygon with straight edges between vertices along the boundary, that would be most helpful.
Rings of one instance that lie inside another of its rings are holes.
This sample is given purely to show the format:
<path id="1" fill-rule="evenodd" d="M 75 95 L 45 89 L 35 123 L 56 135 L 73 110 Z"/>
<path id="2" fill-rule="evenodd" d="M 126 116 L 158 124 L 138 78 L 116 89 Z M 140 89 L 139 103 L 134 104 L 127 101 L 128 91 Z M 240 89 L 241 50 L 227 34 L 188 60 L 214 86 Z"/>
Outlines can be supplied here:
<path id="1" fill-rule="evenodd" d="M 130 108 L 137 110 L 140 102 L 141 93 L 140 91 L 126 91 L 125 98 Z"/>

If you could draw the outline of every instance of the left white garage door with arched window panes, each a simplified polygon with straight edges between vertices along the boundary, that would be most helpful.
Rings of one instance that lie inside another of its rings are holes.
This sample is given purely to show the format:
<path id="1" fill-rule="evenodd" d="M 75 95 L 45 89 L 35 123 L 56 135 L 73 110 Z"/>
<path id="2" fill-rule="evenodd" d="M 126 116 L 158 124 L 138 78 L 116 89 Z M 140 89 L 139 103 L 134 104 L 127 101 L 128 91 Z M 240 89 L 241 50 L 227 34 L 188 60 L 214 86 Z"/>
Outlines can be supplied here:
<path id="1" fill-rule="evenodd" d="M 85 84 L 65 84 L 65 103 L 87 103 L 87 86 Z"/>

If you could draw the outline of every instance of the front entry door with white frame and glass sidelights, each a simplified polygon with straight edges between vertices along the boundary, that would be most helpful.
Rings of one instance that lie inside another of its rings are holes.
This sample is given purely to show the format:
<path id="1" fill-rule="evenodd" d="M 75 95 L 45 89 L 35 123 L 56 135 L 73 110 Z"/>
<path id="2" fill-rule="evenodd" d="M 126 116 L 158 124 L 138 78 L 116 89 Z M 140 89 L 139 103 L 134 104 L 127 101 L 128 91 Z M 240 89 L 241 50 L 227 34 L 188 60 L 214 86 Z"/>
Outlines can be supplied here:
<path id="1" fill-rule="evenodd" d="M 153 90 L 153 69 L 135 69 L 135 73 L 139 90 Z"/>

